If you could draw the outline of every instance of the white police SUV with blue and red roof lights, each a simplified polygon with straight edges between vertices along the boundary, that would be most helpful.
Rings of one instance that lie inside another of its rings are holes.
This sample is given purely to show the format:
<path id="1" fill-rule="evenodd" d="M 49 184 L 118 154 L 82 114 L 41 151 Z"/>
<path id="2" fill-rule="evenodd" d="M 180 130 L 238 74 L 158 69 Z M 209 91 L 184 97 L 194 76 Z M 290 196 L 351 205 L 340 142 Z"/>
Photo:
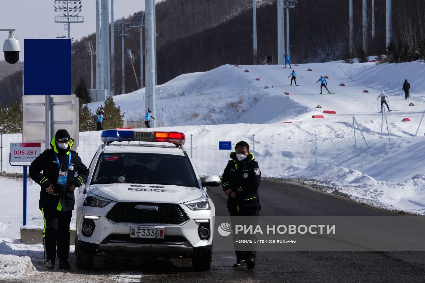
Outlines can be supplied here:
<path id="1" fill-rule="evenodd" d="M 192 258 L 210 269 L 214 204 L 182 147 L 183 133 L 104 130 L 76 200 L 78 268 L 99 252 L 155 258 Z"/>

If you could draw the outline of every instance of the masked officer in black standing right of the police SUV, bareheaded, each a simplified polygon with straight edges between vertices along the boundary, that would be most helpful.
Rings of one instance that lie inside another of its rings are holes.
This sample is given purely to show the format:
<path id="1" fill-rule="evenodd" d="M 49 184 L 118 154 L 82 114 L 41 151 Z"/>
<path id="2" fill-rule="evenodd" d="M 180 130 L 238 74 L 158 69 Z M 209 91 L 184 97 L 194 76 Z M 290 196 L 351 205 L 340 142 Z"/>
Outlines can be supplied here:
<path id="1" fill-rule="evenodd" d="M 230 158 L 232 159 L 228 161 L 222 178 L 223 191 L 229 197 L 227 209 L 230 216 L 252 216 L 250 219 L 256 223 L 261 210 L 258 197 L 260 168 L 246 142 L 238 142 L 235 151 L 230 153 Z M 233 236 L 235 237 L 235 233 Z M 255 246 L 251 251 L 236 251 L 236 263 L 233 267 L 246 266 L 247 269 L 253 269 L 255 257 Z"/>

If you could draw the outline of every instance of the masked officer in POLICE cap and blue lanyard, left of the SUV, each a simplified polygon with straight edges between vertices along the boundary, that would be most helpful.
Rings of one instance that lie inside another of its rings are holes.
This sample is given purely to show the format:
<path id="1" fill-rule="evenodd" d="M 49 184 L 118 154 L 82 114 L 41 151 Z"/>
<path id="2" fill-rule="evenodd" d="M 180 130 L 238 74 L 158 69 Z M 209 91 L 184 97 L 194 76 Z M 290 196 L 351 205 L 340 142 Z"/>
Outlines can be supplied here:
<path id="1" fill-rule="evenodd" d="M 69 223 L 74 189 L 84 184 L 89 173 L 78 153 L 71 150 L 73 142 L 67 130 L 58 130 L 50 143 L 52 148 L 32 161 L 28 170 L 31 179 L 41 186 L 39 208 L 44 219 L 44 264 L 48 269 L 54 268 L 57 254 L 59 269 L 71 270 Z"/>

